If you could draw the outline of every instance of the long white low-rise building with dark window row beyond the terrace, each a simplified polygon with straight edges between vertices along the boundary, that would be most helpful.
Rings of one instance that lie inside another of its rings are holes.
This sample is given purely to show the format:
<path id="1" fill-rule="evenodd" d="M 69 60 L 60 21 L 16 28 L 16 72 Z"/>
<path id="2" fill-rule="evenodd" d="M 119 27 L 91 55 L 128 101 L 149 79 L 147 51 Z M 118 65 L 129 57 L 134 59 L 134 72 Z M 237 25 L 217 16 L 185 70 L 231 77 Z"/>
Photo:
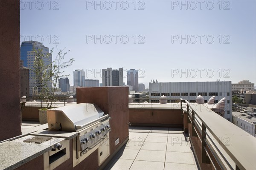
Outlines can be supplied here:
<path id="1" fill-rule="evenodd" d="M 206 103 L 212 96 L 215 96 L 215 103 L 226 98 L 224 118 L 232 121 L 232 95 L 231 81 L 215 82 L 150 82 L 150 98 L 182 98 L 189 102 L 195 102 L 198 95 L 204 97 Z"/>

